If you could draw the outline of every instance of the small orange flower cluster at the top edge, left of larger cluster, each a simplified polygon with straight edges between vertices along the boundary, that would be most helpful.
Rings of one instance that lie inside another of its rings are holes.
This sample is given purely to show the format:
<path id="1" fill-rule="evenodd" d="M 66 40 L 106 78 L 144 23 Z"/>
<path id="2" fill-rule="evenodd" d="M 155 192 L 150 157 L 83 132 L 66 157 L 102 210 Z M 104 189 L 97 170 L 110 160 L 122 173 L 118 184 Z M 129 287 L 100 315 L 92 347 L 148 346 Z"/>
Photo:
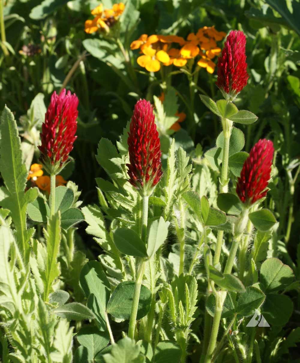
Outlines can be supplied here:
<path id="1" fill-rule="evenodd" d="M 125 9 L 123 3 L 114 4 L 112 9 L 103 10 L 103 5 L 98 5 L 92 10 L 94 19 L 86 20 L 84 24 L 84 30 L 86 33 L 92 34 L 98 30 L 105 30 L 109 32 L 109 28 L 115 24 L 118 17 L 122 14 Z"/>

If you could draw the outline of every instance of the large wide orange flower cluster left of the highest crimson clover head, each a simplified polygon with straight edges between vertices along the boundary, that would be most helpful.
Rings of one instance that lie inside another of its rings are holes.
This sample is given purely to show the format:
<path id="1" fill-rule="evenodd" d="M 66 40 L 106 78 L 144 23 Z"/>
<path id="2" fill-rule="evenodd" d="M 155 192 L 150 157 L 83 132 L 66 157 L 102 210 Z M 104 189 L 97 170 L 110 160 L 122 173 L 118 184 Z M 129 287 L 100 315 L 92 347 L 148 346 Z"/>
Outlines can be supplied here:
<path id="1" fill-rule="evenodd" d="M 212 59 L 221 52 L 216 42 L 225 35 L 226 33 L 218 32 L 214 26 L 204 26 L 196 34 L 188 34 L 187 40 L 176 35 L 142 34 L 131 43 L 130 48 L 141 50 L 142 55 L 137 62 L 149 72 L 159 71 L 161 64 L 183 67 L 189 59 L 200 56 L 198 66 L 213 73 L 216 65 Z M 181 48 L 174 48 L 173 44 L 179 44 Z"/>

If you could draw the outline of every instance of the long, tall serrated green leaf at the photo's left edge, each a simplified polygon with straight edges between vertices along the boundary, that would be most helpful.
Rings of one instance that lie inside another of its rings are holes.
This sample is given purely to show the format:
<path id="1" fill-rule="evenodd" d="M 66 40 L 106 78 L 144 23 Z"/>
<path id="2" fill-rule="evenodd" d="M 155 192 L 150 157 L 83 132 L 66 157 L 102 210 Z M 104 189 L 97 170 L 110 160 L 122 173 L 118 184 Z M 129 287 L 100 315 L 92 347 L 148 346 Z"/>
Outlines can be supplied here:
<path id="1" fill-rule="evenodd" d="M 26 210 L 28 203 L 36 199 L 37 188 L 30 188 L 24 193 L 28 174 L 22 160 L 17 124 L 6 106 L 1 114 L 0 134 L 0 172 L 8 192 L 8 196 L 0 201 L 0 205 L 11 211 L 16 228 L 16 242 L 24 256 L 24 263 L 28 264 L 28 241 L 34 230 L 27 230 Z"/>

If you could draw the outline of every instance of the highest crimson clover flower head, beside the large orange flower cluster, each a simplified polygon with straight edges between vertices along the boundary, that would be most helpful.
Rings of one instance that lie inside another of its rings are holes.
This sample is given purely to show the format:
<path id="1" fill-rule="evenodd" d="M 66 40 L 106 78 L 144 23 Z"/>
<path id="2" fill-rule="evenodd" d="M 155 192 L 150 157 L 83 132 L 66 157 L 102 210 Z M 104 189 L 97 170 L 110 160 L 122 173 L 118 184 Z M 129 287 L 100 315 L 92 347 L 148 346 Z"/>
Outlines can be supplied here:
<path id="1" fill-rule="evenodd" d="M 240 30 L 232 30 L 218 59 L 216 85 L 226 99 L 234 99 L 248 81 L 246 63 L 246 36 Z"/>

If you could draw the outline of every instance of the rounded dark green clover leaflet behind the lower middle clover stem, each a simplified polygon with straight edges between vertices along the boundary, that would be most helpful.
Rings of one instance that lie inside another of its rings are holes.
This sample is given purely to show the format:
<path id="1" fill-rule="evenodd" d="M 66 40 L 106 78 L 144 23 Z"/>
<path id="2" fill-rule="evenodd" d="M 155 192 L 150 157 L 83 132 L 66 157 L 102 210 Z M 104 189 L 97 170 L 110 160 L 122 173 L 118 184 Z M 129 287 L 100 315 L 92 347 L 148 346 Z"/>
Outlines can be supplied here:
<path id="1" fill-rule="evenodd" d="M 107 312 L 115 318 L 129 320 L 135 283 L 134 281 L 121 282 L 112 293 L 107 305 Z M 143 318 L 150 310 L 151 291 L 144 285 L 141 286 L 139 296 L 137 320 Z"/>

